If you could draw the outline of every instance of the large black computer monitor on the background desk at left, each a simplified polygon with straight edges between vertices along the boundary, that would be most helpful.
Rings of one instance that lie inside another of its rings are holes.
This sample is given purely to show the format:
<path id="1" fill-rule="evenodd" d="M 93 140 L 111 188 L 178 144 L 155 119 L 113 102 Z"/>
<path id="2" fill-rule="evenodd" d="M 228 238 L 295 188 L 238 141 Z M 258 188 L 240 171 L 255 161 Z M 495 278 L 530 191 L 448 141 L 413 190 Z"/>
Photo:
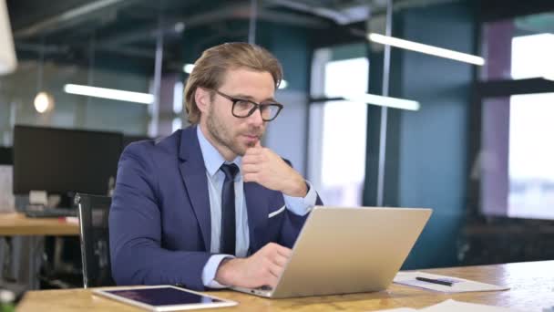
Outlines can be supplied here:
<path id="1" fill-rule="evenodd" d="M 14 193 L 108 194 L 118 171 L 123 135 L 16 125 Z"/>

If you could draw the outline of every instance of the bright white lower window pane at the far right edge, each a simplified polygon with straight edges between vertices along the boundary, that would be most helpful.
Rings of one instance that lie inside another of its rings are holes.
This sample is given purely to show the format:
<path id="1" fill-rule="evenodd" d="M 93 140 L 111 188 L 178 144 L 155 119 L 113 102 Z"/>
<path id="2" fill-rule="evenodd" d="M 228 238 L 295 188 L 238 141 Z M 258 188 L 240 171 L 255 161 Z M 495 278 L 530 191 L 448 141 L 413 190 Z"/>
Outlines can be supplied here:
<path id="1" fill-rule="evenodd" d="M 554 93 L 509 102 L 508 216 L 554 219 Z"/>

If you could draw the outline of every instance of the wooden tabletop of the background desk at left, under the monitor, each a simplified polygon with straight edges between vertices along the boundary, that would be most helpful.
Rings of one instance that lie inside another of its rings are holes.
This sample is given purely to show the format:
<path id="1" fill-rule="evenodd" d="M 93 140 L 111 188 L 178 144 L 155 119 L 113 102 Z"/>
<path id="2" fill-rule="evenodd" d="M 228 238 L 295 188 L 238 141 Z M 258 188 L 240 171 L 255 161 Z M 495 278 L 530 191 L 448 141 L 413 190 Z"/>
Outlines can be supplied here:
<path id="1" fill-rule="evenodd" d="M 78 224 L 57 218 L 27 218 L 23 213 L 0 213 L 0 236 L 78 234 Z"/>

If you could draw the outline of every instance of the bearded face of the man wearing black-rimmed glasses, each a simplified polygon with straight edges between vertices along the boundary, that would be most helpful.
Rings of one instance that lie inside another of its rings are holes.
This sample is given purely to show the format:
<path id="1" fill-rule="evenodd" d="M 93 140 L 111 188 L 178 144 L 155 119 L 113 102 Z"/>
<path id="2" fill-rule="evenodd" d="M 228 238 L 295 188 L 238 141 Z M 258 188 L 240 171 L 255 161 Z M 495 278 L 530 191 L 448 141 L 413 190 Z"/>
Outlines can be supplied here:
<path id="1" fill-rule="evenodd" d="M 260 103 L 274 101 L 275 88 L 270 73 L 237 68 L 227 71 L 218 91 L 232 98 Z M 231 109 L 231 100 L 216 93 L 210 100 L 207 114 L 202 115 L 205 115 L 205 130 L 209 132 L 211 143 L 225 158 L 232 159 L 244 155 L 249 147 L 262 139 L 266 121 L 262 120 L 259 109 L 247 118 L 234 117 Z"/>

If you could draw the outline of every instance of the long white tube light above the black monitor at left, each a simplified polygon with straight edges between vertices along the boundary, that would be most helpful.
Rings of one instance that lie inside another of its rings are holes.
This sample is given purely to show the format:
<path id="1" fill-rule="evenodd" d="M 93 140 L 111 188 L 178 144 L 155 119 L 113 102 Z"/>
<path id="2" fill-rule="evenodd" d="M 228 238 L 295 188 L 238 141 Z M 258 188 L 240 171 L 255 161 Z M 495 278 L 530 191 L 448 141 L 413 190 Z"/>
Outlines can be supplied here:
<path id="1" fill-rule="evenodd" d="M 66 86 L 64 86 L 64 91 L 66 91 L 66 93 L 83 95 L 87 97 L 117 99 L 142 104 L 152 104 L 154 102 L 154 96 L 149 93 L 124 91 L 115 88 L 97 88 L 67 84 Z"/>

